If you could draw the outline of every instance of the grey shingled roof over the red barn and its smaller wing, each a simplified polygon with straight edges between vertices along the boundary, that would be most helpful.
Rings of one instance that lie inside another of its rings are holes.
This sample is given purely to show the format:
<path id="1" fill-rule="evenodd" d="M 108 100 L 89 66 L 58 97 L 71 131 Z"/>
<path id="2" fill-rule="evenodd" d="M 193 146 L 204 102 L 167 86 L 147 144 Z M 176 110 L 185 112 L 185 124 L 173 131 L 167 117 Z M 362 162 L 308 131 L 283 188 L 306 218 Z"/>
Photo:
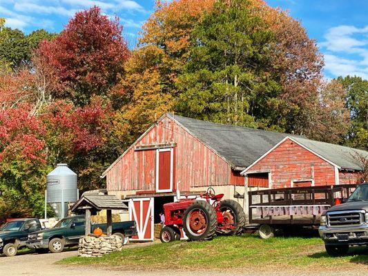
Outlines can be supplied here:
<path id="1" fill-rule="evenodd" d="M 173 116 L 169 113 L 167 115 L 175 119 L 188 132 L 191 132 L 193 136 L 215 150 L 218 155 L 224 157 L 226 161 L 238 170 L 251 166 L 254 161 L 262 157 L 285 137 L 291 137 L 291 139 L 298 141 L 305 148 L 341 168 L 361 170 L 356 160 L 356 155 L 359 154 L 368 158 L 368 152 L 365 150 L 356 150 L 345 146 L 313 141 L 298 135 L 216 124 L 179 115 Z"/>

